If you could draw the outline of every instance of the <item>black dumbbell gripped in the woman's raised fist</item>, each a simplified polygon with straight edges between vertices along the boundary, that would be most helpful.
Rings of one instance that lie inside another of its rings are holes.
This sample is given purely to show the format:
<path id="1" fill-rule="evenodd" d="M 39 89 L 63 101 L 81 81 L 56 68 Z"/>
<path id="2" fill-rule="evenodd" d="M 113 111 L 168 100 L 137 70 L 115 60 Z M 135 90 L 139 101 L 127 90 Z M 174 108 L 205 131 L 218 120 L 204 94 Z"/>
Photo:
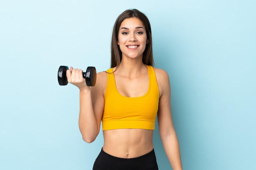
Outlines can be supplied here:
<path id="1" fill-rule="evenodd" d="M 66 72 L 69 68 L 67 66 L 61 65 L 58 68 L 58 84 L 67 85 L 67 75 Z M 97 73 L 95 67 L 88 67 L 86 72 L 83 72 L 83 78 L 85 78 L 86 85 L 94 86 L 96 83 Z"/>

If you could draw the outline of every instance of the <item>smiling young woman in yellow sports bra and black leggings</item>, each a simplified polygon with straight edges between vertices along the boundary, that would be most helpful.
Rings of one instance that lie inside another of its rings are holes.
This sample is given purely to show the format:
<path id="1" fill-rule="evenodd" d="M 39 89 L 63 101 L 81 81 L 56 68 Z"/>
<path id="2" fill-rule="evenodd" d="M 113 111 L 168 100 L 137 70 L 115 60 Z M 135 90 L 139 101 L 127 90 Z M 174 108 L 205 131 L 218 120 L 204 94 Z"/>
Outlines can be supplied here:
<path id="1" fill-rule="evenodd" d="M 168 74 L 153 68 L 152 36 L 146 15 L 126 10 L 117 18 L 111 43 L 111 69 L 88 87 L 82 70 L 67 70 L 80 90 L 79 129 L 93 142 L 102 121 L 104 145 L 93 170 L 158 170 L 153 130 L 159 134 L 173 170 L 181 170 L 180 148 L 171 117 Z"/>

